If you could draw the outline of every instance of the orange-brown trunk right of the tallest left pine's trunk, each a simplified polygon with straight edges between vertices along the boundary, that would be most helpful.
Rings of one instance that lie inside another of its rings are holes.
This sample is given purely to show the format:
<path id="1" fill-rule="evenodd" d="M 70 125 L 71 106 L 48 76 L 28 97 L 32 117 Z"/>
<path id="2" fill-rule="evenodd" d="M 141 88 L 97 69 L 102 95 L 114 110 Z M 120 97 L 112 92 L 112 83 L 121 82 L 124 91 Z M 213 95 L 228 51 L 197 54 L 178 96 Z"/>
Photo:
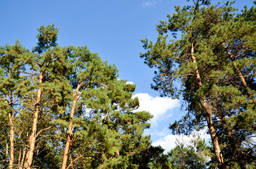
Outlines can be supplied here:
<path id="1" fill-rule="evenodd" d="M 66 165 L 68 163 L 68 151 L 70 149 L 70 145 L 71 145 L 71 134 L 72 134 L 72 125 L 73 125 L 73 117 L 75 115 L 75 106 L 76 106 L 76 102 L 78 101 L 79 97 L 78 97 L 78 91 L 81 87 L 81 85 L 83 84 L 83 82 L 79 82 L 78 87 L 75 89 L 75 94 L 73 96 L 73 105 L 71 108 L 71 117 L 69 119 L 69 124 L 68 124 L 68 132 L 67 132 L 67 139 L 66 139 L 66 146 L 65 146 L 65 150 L 64 150 L 64 154 L 63 154 L 63 161 L 62 161 L 62 167 L 61 169 L 66 169 Z"/>

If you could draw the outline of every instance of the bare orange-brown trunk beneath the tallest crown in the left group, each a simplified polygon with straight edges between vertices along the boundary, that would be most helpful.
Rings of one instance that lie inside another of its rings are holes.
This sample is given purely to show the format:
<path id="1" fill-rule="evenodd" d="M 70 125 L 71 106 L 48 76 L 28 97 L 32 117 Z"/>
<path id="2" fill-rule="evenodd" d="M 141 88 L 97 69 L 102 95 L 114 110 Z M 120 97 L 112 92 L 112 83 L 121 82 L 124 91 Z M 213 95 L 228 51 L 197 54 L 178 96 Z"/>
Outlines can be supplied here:
<path id="1" fill-rule="evenodd" d="M 39 84 L 42 84 L 42 72 L 39 75 Z M 35 113 L 34 113 L 34 119 L 33 119 L 33 125 L 32 125 L 32 132 L 30 134 L 30 139 L 29 139 L 29 149 L 25 158 L 25 163 L 24 163 L 24 168 L 30 169 L 32 165 L 32 160 L 33 160 L 33 154 L 35 150 L 35 140 L 37 137 L 37 120 L 38 120 L 38 115 L 39 115 L 39 104 L 41 101 L 41 96 L 42 96 L 42 89 L 39 87 L 38 92 L 37 92 L 37 102 L 35 104 Z"/>

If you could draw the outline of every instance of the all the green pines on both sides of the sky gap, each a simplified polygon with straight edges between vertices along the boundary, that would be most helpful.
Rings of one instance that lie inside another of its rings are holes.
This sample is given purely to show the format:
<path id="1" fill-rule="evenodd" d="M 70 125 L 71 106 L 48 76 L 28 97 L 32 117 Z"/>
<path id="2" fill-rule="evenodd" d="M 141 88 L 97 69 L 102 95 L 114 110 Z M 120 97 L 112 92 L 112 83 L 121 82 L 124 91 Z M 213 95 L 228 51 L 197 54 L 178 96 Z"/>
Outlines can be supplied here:
<path id="1" fill-rule="evenodd" d="M 209 144 L 152 146 L 135 84 L 42 25 L 32 50 L 0 46 L 0 168 L 256 168 L 256 8 L 190 2 L 159 21 L 155 42 L 141 40 L 140 57 L 156 70 L 152 89 L 183 99 L 171 132 L 207 127 Z"/>

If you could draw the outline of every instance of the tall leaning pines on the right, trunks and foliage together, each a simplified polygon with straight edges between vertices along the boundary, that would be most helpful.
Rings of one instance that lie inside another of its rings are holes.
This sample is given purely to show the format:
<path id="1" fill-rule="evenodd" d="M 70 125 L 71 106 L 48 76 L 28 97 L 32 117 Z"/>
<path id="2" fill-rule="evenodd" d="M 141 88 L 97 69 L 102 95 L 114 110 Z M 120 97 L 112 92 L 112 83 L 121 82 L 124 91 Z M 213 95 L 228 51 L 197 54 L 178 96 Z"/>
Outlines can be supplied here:
<path id="1" fill-rule="evenodd" d="M 188 103 L 188 113 L 170 125 L 173 132 L 188 134 L 207 124 L 219 168 L 231 165 L 228 154 L 236 154 L 240 168 L 245 168 L 254 154 L 253 144 L 244 144 L 255 133 L 255 9 L 234 17 L 231 4 L 193 2 L 176 6 L 168 21 L 160 21 L 155 44 L 142 40 L 147 52 L 141 57 L 159 70 L 154 89 L 167 96 L 183 94 Z M 181 39 L 168 42 L 169 32 Z M 236 148 L 228 149 L 231 145 Z M 250 152 L 246 158 L 245 152 Z"/>

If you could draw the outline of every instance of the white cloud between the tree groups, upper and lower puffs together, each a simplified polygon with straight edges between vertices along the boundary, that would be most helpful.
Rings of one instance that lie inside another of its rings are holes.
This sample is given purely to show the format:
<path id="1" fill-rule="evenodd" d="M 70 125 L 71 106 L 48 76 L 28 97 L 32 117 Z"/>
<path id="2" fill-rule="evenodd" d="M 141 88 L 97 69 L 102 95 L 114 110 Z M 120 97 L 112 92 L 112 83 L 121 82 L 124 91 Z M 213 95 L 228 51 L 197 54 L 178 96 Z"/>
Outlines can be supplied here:
<path id="1" fill-rule="evenodd" d="M 168 127 L 162 129 L 157 124 L 165 124 L 169 118 L 173 115 L 172 109 L 178 108 L 180 103 L 178 99 L 171 99 L 169 97 L 153 97 L 147 93 L 138 93 L 133 95 L 133 97 L 138 97 L 140 100 L 140 107 L 136 111 L 149 111 L 154 118 L 150 120 L 151 127 L 149 130 L 145 130 L 145 134 L 150 134 L 152 136 L 152 145 L 161 146 L 165 151 L 164 154 L 167 154 L 171 149 L 176 146 L 176 139 L 179 142 L 184 144 L 189 144 L 190 139 L 192 139 L 192 134 L 188 135 L 175 135 L 168 134 L 170 130 Z M 207 128 L 200 130 L 199 132 L 193 132 L 195 134 L 200 134 L 202 139 L 205 139 L 206 142 L 209 142 L 209 134 L 206 134 Z"/>

